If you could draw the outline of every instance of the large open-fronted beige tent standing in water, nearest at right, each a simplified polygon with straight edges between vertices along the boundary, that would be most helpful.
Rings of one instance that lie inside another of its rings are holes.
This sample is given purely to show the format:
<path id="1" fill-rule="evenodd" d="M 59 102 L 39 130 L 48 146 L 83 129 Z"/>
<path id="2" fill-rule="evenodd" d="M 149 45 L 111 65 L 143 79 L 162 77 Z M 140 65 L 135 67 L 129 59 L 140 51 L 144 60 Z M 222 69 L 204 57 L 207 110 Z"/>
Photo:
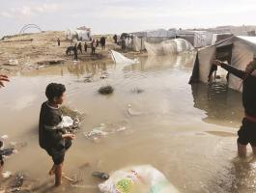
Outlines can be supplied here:
<path id="1" fill-rule="evenodd" d="M 226 61 L 237 69 L 245 69 L 256 52 L 256 37 L 233 36 L 214 45 L 198 50 L 189 83 L 207 83 L 213 60 Z M 242 80 L 233 74 L 227 78 L 229 88 L 242 91 Z"/>

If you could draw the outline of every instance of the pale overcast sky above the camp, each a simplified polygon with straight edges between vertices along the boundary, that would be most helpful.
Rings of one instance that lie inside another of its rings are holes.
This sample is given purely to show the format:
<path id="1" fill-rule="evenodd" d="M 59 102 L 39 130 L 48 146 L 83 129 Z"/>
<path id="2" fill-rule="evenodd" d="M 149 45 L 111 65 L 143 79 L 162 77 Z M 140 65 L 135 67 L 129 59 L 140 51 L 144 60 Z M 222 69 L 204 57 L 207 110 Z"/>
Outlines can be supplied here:
<path id="1" fill-rule="evenodd" d="M 0 37 L 34 23 L 94 34 L 256 24 L 256 0 L 0 0 Z"/>

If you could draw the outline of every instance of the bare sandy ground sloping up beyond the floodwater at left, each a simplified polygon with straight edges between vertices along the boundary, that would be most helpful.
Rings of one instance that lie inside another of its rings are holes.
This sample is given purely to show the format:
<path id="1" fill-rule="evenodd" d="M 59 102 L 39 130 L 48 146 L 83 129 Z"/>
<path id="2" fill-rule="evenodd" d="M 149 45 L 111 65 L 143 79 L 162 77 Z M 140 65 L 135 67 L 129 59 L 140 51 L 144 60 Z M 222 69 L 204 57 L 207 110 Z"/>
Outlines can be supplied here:
<path id="1" fill-rule="evenodd" d="M 57 39 L 61 40 L 61 46 L 57 45 Z M 100 40 L 100 35 L 94 38 Z M 90 42 L 87 42 L 89 44 Z M 66 49 L 71 45 L 67 41 L 65 32 L 48 31 L 35 34 L 14 36 L 0 41 L 0 73 L 14 74 L 18 71 L 41 69 L 49 64 L 61 64 L 73 60 L 73 56 L 66 55 Z M 82 42 L 84 45 L 84 42 Z M 91 56 L 91 49 L 87 53 L 79 54 L 79 61 L 111 60 L 109 50 L 121 51 L 119 45 L 113 43 L 111 37 L 106 41 L 106 49 L 99 46 L 96 55 Z M 137 55 L 140 53 L 130 53 Z"/>

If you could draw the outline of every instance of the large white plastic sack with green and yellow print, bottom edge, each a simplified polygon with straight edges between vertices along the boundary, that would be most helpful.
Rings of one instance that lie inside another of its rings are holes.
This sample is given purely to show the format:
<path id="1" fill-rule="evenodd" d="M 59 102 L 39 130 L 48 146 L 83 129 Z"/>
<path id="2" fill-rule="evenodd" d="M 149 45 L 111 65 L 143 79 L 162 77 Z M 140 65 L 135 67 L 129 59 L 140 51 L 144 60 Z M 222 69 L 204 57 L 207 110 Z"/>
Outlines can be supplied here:
<path id="1" fill-rule="evenodd" d="M 102 193 L 157 192 L 178 193 L 176 187 L 151 165 L 125 168 L 114 172 L 99 184 Z"/>

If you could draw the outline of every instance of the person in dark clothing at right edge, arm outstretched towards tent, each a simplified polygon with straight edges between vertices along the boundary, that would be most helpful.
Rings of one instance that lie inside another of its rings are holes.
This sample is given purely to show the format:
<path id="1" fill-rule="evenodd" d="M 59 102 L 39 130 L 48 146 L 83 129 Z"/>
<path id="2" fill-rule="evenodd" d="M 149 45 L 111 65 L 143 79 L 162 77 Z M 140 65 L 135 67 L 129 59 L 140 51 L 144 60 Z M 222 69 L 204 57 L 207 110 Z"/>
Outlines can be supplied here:
<path id="1" fill-rule="evenodd" d="M 236 69 L 220 61 L 214 61 L 214 65 L 242 79 L 242 105 L 245 115 L 238 131 L 238 153 L 242 157 L 246 156 L 246 146 L 250 144 L 256 155 L 256 55 L 245 70 Z"/>

